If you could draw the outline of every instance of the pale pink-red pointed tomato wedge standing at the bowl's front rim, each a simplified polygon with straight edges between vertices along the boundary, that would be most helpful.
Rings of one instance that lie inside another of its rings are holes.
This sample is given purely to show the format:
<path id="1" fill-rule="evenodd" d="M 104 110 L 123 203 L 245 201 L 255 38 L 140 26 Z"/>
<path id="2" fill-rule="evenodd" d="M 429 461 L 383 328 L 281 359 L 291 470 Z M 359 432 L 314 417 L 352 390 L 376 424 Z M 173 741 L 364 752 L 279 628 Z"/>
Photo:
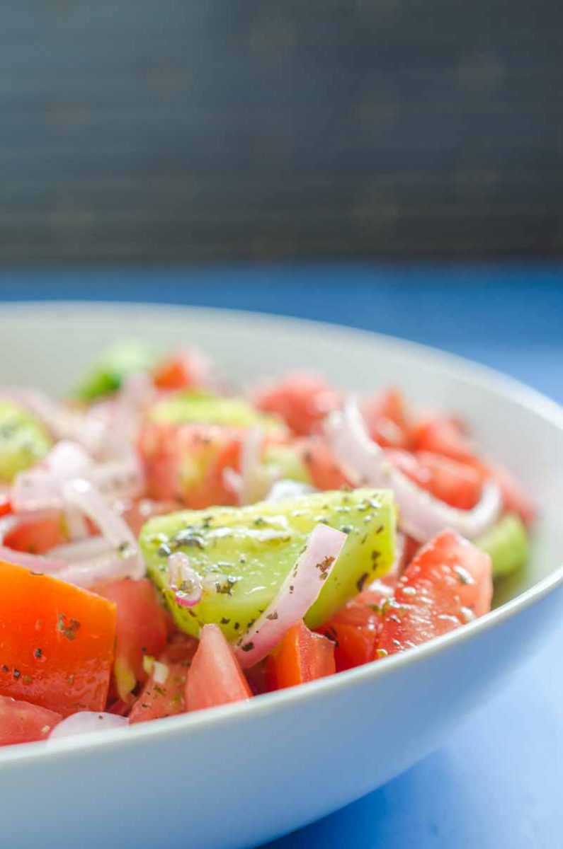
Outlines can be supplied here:
<path id="1" fill-rule="evenodd" d="M 185 684 L 188 711 L 250 699 L 252 692 L 233 650 L 217 625 L 204 625 Z"/>

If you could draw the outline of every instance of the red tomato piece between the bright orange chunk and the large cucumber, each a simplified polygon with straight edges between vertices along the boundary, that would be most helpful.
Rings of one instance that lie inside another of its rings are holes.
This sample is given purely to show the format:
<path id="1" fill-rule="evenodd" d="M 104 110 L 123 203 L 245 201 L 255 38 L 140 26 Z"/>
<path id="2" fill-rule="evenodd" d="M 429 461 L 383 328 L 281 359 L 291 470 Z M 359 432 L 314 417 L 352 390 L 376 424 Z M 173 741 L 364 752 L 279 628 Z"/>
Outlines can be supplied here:
<path id="1" fill-rule="evenodd" d="M 145 681 L 143 656 L 157 657 L 168 637 L 168 617 L 148 578 L 123 578 L 100 584 L 95 592 L 117 604 L 116 660 L 113 683 L 117 696 L 131 704 L 132 690 Z"/>

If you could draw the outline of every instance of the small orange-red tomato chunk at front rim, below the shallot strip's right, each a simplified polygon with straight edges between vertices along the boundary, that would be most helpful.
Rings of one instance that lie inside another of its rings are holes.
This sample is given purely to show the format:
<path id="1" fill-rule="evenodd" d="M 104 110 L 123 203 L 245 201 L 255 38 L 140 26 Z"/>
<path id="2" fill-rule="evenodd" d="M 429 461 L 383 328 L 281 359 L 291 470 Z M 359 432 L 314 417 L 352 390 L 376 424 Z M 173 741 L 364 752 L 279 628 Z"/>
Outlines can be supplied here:
<path id="1" fill-rule="evenodd" d="M 294 687 L 333 675 L 336 672 L 334 643 L 299 621 L 268 658 L 267 672 L 270 689 Z"/>

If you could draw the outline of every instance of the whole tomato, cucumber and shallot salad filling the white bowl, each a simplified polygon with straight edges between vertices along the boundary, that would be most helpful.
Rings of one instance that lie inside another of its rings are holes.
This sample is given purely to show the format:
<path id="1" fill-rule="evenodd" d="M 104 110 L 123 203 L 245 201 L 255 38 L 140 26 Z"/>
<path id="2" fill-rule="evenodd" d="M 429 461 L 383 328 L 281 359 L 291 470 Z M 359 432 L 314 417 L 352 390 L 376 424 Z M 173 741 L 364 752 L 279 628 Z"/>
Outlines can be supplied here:
<path id="1" fill-rule="evenodd" d="M 0 387 L 0 745 L 384 663 L 491 609 L 535 509 L 456 411 L 120 342 Z"/>

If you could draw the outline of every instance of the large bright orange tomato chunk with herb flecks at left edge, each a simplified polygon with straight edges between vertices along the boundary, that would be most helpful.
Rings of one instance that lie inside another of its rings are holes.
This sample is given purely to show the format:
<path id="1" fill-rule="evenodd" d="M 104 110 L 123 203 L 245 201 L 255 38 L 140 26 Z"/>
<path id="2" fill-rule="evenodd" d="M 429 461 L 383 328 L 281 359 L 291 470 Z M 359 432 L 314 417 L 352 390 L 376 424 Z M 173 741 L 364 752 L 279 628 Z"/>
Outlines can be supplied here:
<path id="1" fill-rule="evenodd" d="M 63 716 L 103 711 L 116 605 L 0 561 L 0 693 Z"/>

